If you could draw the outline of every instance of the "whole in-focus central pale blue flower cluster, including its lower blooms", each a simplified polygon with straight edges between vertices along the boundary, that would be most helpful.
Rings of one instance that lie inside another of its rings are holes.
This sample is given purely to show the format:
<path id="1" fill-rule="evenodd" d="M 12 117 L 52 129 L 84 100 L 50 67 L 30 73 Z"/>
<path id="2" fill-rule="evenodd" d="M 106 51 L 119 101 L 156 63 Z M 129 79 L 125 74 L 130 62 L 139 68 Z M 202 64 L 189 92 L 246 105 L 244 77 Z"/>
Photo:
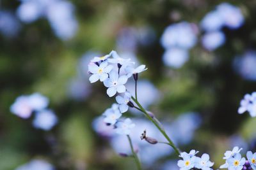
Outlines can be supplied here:
<path id="1" fill-rule="evenodd" d="M 115 127 L 118 134 L 129 134 L 134 127 L 130 118 L 121 119 L 122 113 L 125 113 L 129 106 L 134 106 L 131 102 L 132 95 L 127 91 L 125 84 L 131 77 L 137 83 L 138 73 L 147 70 L 145 65 L 135 68 L 133 64 L 131 59 L 124 59 L 115 51 L 102 57 L 94 57 L 88 64 L 88 73 L 91 74 L 90 82 L 102 81 L 104 86 L 108 88 L 108 96 L 116 96 L 116 103 L 118 104 L 113 104 L 102 115 L 104 122 Z"/>

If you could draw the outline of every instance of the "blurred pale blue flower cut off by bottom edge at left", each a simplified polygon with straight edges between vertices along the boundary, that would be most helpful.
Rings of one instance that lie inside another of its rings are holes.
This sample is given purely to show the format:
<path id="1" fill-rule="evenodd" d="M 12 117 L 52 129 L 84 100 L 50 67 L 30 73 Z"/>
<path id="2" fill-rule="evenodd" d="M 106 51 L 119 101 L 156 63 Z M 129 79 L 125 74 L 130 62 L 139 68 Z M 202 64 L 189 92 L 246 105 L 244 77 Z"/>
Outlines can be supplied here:
<path id="1" fill-rule="evenodd" d="M 45 160 L 34 159 L 24 164 L 22 166 L 17 167 L 15 170 L 54 170 L 54 166 L 46 162 Z"/>

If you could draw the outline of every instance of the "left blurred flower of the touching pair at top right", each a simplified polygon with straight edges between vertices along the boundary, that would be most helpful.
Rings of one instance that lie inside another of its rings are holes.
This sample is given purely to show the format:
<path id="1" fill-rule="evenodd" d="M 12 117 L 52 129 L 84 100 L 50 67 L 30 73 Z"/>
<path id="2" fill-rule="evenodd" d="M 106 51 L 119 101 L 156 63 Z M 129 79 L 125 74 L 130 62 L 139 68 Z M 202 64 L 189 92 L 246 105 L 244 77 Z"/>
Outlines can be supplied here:
<path id="1" fill-rule="evenodd" d="M 200 23 L 202 29 L 205 31 L 219 31 L 224 24 L 223 17 L 216 10 L 207 13 Z"/>

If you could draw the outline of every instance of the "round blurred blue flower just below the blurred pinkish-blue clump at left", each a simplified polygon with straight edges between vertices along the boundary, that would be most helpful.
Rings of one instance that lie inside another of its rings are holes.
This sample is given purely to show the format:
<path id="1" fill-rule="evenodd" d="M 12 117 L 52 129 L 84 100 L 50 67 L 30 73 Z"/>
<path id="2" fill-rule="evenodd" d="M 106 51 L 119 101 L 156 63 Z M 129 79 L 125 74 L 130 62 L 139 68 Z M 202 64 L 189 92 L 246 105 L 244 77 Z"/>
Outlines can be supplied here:
<path id="1" fill-rule="evenodd" d="M 58 118 L 51 110 L 38 111 L 33 120 L 34 127 L 49 131 L 58 123 Z"/>

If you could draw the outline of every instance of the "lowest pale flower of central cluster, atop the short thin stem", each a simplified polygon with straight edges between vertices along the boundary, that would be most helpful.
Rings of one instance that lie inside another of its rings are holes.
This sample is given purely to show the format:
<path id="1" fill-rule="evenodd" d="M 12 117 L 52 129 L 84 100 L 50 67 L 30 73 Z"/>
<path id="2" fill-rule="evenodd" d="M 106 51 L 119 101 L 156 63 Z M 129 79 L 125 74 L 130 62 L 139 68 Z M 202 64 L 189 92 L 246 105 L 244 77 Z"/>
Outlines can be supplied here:
<path id="1" fill-rule="evenodd" d="M 116 133 L 117 134 L 130 134 L 131 129 L 135 127 L 130 118 L 125 118 L 124 122 L 116 122 Z"/>

